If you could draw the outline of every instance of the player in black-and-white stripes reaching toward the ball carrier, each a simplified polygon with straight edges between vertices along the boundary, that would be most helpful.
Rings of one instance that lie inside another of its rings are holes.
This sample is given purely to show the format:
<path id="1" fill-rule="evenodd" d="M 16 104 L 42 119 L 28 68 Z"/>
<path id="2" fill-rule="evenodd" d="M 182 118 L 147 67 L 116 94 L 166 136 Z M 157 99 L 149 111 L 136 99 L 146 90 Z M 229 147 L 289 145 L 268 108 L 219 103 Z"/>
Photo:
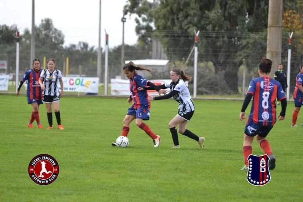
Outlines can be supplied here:
<path id="1" fill-rule="evenodd" d="M 186 75 L 180 69 L 173 69 L 170 72 L 171 83 L 162 84 L 157 86 L 158 88 L 170 88 L 170 92 L 166 95 L 154 97 L 148 96 L 149 100 L 163 100 L 173 97 L 175 101 L 179 103 L 178 114 L 171 119 L 168 123 L 169 130 L 171 132 L 172 140 L 174 142 L 173 148 L 179 148 L 179 138 L 176 126 L 178 125 L 178 132 L 198 142 L 200 147 L 204 147 L 205 138 L 198 137 L 193 132 L 186 129 L 188 121 L 194 114 L 195 105 L 191 100 L 190 92 L 184 81 L 191 81 L 191 77 Z M 152 87 L 151 87 L 152 88 Z M 151 88 L 146 88 L 151 89 Z"/>

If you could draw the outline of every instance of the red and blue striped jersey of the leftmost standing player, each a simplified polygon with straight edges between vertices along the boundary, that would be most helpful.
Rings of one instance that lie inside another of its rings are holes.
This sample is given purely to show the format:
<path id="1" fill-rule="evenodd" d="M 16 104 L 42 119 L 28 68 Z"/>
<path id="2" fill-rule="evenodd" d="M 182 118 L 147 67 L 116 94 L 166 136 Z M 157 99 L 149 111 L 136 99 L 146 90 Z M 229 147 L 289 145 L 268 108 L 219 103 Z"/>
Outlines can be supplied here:
<path id="1" fill-rule="evenodd" d="M 22 81 L 25 82 L 27 80 L 27 90 L 26 90 L 26 96 L 27 99 L 30 100 L 42 100 L 42 90 L 38 83 L 40 74 L 40 71 L 35 71 L 34 69 L 30 69 L 27 72 L 25 72 Z"/>

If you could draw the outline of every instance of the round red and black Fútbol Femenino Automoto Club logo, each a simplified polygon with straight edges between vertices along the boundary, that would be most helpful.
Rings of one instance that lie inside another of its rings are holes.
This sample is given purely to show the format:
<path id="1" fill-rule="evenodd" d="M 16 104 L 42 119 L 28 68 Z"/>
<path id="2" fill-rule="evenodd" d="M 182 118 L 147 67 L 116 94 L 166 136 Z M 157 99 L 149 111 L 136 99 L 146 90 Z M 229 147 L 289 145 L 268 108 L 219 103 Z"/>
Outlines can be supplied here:
<path id="1" fill-rule="evenodd" d="M 58 162 L 51 155 L 39 154 L 30 161 L 28 174 L 37 184 L 51 184 L 57 179 L 59 174 Z"/>

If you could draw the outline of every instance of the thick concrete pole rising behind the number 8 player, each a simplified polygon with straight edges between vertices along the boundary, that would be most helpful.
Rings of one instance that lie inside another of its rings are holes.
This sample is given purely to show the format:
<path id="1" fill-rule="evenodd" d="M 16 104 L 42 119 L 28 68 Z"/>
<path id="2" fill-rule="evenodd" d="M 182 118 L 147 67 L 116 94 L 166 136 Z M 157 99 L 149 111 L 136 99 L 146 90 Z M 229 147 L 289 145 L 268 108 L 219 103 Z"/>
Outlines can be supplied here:
<path id="1" fill-rule="evenodd" d="M 283 0 L 269 0 L 266 57 L 272 60 L 270 76 L 281 63 Z"/>

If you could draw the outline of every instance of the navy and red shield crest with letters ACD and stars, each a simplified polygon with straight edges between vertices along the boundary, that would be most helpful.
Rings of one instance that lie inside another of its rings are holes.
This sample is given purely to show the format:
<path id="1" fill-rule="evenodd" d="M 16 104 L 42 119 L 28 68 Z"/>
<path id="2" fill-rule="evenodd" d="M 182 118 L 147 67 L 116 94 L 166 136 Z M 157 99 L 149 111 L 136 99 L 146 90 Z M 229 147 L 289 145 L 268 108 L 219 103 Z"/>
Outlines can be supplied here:
<path id="1" fill-rule="evenodd" d="M 267 154 L 263 156 L 255 156 L 250 154 L 248 157 L 247 181 L 255 186 L 263 186 L 270 181 L 268 169 L 269 157 Z"/>

